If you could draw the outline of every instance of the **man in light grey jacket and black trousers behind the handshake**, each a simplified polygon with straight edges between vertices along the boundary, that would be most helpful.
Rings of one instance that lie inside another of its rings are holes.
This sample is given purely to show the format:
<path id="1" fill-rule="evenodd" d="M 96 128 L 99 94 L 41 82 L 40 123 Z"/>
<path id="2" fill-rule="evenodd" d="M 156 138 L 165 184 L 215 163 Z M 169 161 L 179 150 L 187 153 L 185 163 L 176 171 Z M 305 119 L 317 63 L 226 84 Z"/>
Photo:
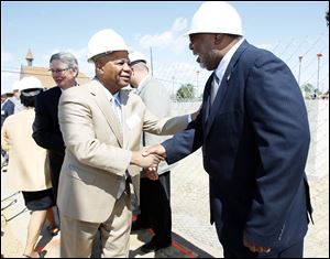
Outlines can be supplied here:
<path id="1" fill-rule="evenodd" d="M 140 52 L 129 53 L 133 74 L 131 86 L 142 98 L 146 108 L 160 118 L 169 116 L 169 95 L 164 87 L 148 72 L 146 60 Z M 164 137 L 142 133 L 142 145 L 147 147 L 164 141 Z M 158 179 L 153 181 L 141 171 L 140 180 L 140 214 L 132 223 L 132 230 L 152 227 L 154 236 L 143 245 L 143 252 L 156 251 L 172 244 L 172 213 L 170 213 L 170 177 L 169 166 L 163 161 L 158 165 Z"/>

